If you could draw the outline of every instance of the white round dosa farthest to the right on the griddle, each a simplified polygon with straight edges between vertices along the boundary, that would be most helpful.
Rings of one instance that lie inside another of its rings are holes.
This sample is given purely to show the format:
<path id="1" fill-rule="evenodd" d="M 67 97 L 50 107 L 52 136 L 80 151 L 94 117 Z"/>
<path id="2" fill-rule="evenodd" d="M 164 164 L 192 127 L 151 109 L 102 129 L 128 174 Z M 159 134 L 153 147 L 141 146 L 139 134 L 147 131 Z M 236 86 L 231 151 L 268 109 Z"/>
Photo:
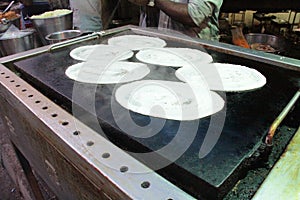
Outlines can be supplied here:
<path id="1" fill-rule="evenodd" d="M 186 65 L 175 72 L 176 77 L 189 84 L 206 81 L 215 91 L 242 92 L 261 88 L 266 78 L 259 71 L 228 63 L 202 64 L 196 68 Z"/>

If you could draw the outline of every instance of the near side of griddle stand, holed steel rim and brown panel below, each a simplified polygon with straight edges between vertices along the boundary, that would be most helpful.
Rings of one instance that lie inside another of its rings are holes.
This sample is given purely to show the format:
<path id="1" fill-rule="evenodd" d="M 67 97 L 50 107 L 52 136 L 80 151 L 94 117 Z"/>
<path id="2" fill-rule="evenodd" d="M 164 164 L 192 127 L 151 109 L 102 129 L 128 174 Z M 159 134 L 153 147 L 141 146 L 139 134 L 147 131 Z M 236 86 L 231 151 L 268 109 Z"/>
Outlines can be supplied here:
<path id="1" fill-rule="evenodd" d="M 3 65 L 0 104 L 10 138 L 61 199 L 194 199 Z"/>

